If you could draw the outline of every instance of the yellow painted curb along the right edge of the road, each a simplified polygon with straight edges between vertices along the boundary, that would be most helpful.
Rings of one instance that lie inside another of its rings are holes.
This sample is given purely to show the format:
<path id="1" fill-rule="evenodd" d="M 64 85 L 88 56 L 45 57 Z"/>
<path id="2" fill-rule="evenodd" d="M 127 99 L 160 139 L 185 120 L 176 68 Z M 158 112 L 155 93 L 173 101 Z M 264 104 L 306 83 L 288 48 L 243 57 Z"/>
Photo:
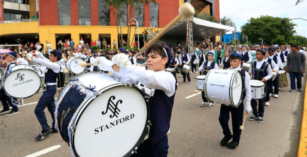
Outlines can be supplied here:
<path id="1" fill-rule="evenodd" d="M 307 84 L 307 81 L 306 81 Z M 297 150 L 297 157 L 307 157 L 307 86 L 305 86 L 304 95 L 304 110 L 301 125 L 301 137 L 300 143 Z"/>

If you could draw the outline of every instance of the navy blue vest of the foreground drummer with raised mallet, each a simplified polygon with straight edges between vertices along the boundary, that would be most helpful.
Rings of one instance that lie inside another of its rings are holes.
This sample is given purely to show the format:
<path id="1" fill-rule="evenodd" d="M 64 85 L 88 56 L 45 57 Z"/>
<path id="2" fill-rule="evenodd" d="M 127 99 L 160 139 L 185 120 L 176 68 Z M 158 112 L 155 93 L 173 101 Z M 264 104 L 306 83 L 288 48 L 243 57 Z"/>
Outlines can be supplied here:
<path id="1" fill-rule="evenodd" d="M 175 84 L 177 89 L 177 85 Z M 172 109 L 174 105 L 173 96 L 168 97 L 163 90 L 155 90 L 153 97 L 150 97 L 150 126 L 149 131 L 149 146 L 153 146 L 161 140 L 169 131 Z"/>

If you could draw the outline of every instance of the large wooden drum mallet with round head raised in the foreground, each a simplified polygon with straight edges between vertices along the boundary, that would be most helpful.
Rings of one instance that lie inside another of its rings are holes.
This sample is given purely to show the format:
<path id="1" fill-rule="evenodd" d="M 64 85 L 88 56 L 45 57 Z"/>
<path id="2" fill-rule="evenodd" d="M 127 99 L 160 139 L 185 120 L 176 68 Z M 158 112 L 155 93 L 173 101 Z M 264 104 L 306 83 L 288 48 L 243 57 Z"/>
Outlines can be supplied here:
<path id="1" fill-rule="evenodd" d="M 188 17 L 190 17 L 191 15 L 194 15 L 194 14 L 195 14 L 195 10 L 194 10 L 193 6 L 190 3 L 185 2 L 179 8 L 179 15 L 177 15 L 172 21 L 170 21 L 163 29 L 160 30 L 159 33 L 157 33 L 156 36 L 154 36 L 145 46 L 143 46 L 143 48 L 141 48 L 139 50 L 138 54 L 141 53 L 141 52 L 144 52 L 155 41 L 157 41 L 159 38 L 161 38 L 168 31 L 169 28 L 171 28 L 177 21 L 179 21 L 181 19 L 181 17 L 188 18 Z"/>

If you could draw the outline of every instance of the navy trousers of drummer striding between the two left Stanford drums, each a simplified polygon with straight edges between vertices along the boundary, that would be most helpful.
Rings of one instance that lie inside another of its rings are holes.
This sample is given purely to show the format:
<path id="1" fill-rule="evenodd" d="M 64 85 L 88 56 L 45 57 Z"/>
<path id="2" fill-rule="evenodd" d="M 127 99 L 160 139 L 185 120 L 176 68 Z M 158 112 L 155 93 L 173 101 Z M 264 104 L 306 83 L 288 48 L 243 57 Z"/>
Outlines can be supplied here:
<path id="1" fill-rule="evenodd" d="M 55 101 L 54 101 L 54 95 L 56 94 L 56 85 L 52 86 L 47 86 L 47 90 L 45 93 L 41 96 L 39 99 L 34 113 L 41 124 L 42 130 L 46 131 L 49 128 L 49 125 L 47 123 L 46 115 L 44 112 L 44 109 L 47 107 L 48 111 L 51 114 L 52 117 L 52 128 L 55 126 L 55 116 L 54 116 L 54 111 L 55 111 Z"/>

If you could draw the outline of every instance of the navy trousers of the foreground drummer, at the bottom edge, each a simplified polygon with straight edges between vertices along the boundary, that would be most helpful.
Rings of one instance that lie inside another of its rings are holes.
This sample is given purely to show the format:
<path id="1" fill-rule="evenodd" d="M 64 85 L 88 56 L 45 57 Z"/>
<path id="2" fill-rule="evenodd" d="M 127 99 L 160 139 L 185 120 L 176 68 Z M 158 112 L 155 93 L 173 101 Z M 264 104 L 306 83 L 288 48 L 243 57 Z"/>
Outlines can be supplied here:
<path id="1" fill-rule="evenodd" d="M 165 135 L 160 141 L 149 147 L 148 140 L 145 140 L 137 150 L 130 157 L 167 157 L 169 144 L 167 135 Z"/>

